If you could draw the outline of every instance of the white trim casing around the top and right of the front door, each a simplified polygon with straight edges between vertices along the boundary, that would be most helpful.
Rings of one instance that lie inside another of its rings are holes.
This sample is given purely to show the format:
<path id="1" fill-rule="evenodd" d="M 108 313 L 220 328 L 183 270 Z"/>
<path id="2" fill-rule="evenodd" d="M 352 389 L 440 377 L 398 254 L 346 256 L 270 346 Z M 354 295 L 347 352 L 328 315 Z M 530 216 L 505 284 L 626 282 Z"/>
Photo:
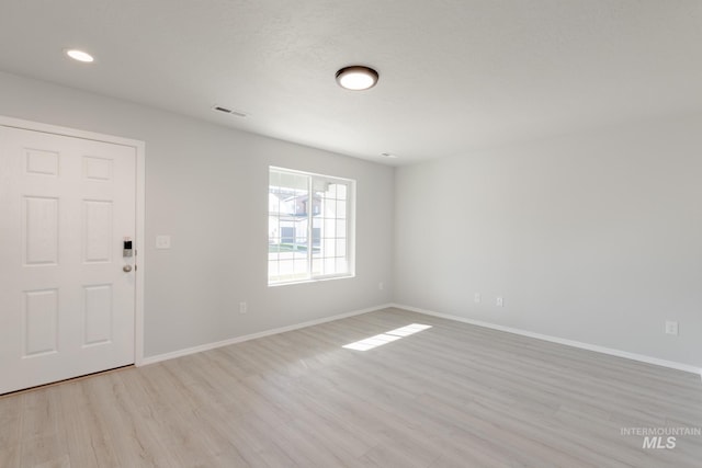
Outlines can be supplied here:
<path id="1" fill-rule="evenodd" d="M 146 273 L 146 142 L 132 138 L 123 138 L 114 135 L 99 134 L 78 128 L 61 127 L 21 118 L 0 115 L 0 126 L 20 128 L 24 130 L 41 132 L 52 135 L 82 138 L 87 140 L 103 141 L 132 147 L 136 151 L 136 251 L 138 274 L 136 275 L 136 290 L 134 304 L 134 364 L 140 366 L 144 362 L 144 276 Z"/>

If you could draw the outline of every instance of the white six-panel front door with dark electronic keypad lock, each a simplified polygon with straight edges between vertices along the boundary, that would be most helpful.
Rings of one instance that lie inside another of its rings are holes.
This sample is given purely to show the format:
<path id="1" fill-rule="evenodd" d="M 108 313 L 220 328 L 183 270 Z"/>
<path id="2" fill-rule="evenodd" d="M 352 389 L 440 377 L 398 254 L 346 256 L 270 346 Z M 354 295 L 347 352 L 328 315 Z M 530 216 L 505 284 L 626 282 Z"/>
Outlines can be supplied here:
<path id="1" fill-rule="evenodd" d="M 136 150 L 0 126 L 0 393 L 133 364 Z"/>

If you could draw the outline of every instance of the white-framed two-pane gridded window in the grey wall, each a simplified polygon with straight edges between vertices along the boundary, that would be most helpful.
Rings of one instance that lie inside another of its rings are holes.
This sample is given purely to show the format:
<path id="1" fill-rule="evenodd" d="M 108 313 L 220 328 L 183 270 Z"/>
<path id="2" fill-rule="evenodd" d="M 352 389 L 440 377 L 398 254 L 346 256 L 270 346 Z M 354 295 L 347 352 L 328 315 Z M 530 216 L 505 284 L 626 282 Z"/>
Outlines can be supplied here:
<path id="1" fill-rule="evenodd" d="M 269 170 L 268 284 L 353 276 L 355 181 Z"/>

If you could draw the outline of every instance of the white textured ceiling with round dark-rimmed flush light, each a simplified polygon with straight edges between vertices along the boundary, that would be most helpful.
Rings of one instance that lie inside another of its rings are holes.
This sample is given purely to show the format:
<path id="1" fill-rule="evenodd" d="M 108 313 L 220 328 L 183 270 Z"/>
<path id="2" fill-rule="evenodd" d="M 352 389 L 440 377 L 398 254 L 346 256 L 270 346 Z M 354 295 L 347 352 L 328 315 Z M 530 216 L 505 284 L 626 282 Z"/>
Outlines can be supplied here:
<path id="1" fill-rule="evenodd" d="M 702 111 L 702 1 L 2 0 L 0 70 L 404 164 Z"/>

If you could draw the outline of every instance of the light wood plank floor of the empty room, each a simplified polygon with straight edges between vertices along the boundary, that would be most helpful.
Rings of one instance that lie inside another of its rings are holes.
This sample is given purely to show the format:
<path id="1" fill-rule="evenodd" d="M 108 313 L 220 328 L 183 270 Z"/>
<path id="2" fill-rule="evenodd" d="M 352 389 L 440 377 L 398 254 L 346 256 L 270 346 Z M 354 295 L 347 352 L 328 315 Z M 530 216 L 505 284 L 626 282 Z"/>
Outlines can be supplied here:
<path id="1" fill-rule="evenodd" d="M 702 427 L 700 376 L 385 309 L 0 398 L 0 467 L 702 466 L 622 427 Z"/>

